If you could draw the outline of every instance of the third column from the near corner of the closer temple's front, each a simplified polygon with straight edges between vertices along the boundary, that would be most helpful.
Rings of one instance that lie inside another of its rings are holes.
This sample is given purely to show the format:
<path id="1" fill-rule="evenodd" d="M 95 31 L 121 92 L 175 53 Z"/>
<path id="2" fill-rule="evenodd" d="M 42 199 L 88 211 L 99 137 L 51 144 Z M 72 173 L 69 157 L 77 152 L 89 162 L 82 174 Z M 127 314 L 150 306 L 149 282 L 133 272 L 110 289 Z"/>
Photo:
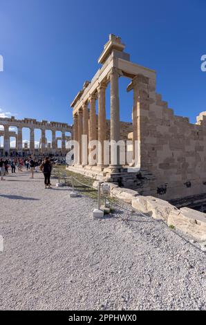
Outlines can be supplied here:
<path id="1" fill-rule="evenodd" d="M 90 110 L 89 110 L 89 131 L 88 131 L 88 140 L 93 141 L 97 140 L 97 133 L 96 133 L 96 125 L 97 125 L 97 118 L 96 118 L 96 100 L 97 96 L 95 94 L 90 95 L 89 102 L 90 102 Z M 92 149 L 91 149 L 92 151 Z M 93 161 L 89 161 L 89 165 L 93 165 Z"/>

